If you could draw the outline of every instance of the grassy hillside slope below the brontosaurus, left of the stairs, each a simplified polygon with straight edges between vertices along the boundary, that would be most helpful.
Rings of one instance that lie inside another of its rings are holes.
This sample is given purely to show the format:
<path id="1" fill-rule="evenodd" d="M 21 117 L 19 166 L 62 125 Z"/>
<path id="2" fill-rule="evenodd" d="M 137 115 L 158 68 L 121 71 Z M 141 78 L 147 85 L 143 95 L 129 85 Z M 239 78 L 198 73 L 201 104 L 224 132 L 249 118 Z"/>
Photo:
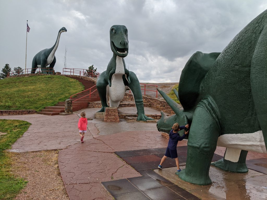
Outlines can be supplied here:
<path id="1" fill-rule="evenodd" d="M 0 110 L 37 110 L 54 106 L 84 90 L 77 80 L 46 75 L 0 80 Z"/>

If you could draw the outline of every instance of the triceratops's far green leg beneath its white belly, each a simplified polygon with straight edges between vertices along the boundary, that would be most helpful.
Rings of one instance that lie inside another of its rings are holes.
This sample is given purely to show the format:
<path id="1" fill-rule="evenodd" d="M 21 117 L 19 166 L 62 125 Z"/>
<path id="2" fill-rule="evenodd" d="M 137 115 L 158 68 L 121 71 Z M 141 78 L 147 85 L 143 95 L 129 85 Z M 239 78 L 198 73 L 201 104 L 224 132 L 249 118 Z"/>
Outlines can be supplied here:
<path id="1" fill-rule="evenodd" d="M 231 151 L 228 151 L 229 148 L 226 149 L 225 153 L 224 153 L 224 157 L 216 162 L 211 163 L 211 165 L 218 167 L 224 171 L 231 171 L 234 173 L 246 173 L 248 172 L 248 167 L 246 166 L 246 157 L 248 154 L 248 151 L 245 150 L 239 150 L 240 152 L 238 152 L 238 161 L 237 162 L 233 162 L 233 161 L 229 161 L 227 160 L 227 153 L 231 154 Z M 237 149 L 238 151 L 238 149 Z"/>

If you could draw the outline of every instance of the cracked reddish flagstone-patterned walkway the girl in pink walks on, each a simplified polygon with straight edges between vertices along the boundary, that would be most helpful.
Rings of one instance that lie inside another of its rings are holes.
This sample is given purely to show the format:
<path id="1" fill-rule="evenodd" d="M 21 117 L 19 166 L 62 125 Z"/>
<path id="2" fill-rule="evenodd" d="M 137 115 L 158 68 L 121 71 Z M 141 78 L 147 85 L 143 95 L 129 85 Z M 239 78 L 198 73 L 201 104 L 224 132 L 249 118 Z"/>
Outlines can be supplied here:
<path id="1" fill-rule="evenodd" d="M 96 110 L 84 109 L 87 117 L 93 117 Z M 120 111 L 123 112 L 123 109 Z M 159 114 L 159 111 L 155 110 L 154 114 Z M 29 130 L 14 143 L 11 151 L 62 149 L 58 163 L 71 200 L 113 199 L 101 182 L 142 176 L 114 152 L 163 148 L 168 142 L 157 131 L 156 123 L 126 122 L 122 119 L 120 123 L 104 123 L 103 119 L 93 119 L 88 121 L 85 142 L 80 143 L 78 114 L 9 115 L 0 116 L 0 119 L 19 119 L 32 123 Z M 186 146 L 187 143 L 181 141 L 178 145 Z M 224 149 L 218 147 L 215 153 L 223 156 Z M 264 158 L 266 154 L 249 152 L 249 156 Z"/>

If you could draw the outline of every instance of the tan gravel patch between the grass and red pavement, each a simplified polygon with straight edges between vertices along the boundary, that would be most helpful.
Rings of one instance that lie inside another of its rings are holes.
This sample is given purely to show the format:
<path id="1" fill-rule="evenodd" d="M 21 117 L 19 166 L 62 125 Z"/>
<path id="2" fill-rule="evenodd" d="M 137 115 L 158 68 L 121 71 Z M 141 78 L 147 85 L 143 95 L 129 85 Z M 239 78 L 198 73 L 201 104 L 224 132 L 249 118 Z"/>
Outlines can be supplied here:
<path id="1" fill-rule="evenodd" d="M 13 174 L 28 181 L 27 186 L 15 199 L 69 200 L 58 168 L 58 151 L 8 153 Z"/>

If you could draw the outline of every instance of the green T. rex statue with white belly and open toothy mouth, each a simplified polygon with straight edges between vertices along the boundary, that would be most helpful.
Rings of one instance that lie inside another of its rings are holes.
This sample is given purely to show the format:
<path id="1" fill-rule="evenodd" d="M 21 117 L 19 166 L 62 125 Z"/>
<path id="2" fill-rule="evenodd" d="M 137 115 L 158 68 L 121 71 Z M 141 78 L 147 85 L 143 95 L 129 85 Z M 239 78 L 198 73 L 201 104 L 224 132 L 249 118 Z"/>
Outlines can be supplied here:
<path id="1" fill-rule="evenodd" d="M 104 112 L 109 105 L 118 107 L 123 99 L 126 89 L 131 89 L 137 109 L 137 120 L 153 120 L 144 114 L 144 105 L 140 83 L 135 73 L 125 67 L 124 57 L 128 55 L 128 32 L 123 25 L 114 25 L 110 28 L 110 47 L 113 56 L 108 63 L 107 70 L 100 74 L 96 87 L 101 99 L 102 107 L 99 112 Z"/>

